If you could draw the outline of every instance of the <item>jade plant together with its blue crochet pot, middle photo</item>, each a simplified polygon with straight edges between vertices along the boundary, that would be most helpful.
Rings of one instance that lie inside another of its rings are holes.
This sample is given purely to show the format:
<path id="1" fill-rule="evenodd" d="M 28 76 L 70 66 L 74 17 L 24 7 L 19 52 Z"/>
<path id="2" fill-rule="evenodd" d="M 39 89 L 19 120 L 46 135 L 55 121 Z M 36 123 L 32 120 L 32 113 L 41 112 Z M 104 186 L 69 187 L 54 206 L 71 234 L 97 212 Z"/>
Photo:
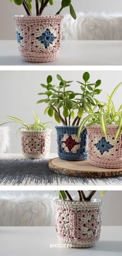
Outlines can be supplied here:
<path id="1" fill-rule="evenodd" d="M 54 115 L 55 121 L 59 124 L 62 123 L 62 125 L 55 127 L 58 156 L 64 160 L 85 160 L 88 157 L 87 131 L 84 130 L 78 138 L 78 128 L 86 110 L 90 111 L 91 106 L 95 108 L 98 103 L 95 97 L 101 93 L 101 90 L 98 89 L 101 80 L 91 84 L 89 83 L 90 75 L 85 72 L 83 74 L 84 82 L 79 82 L 81 92 L 76 93 L 70 89 L 73 81 L 66 81 L 59 74 L 57 74 L 57 79 L 58 86 L 53 85 L 52 76 L 47 77 L 47 84 L 41 84 L 44 92 L 38 95 L 45 98 L 37 101 L 37 103 L 45 102 L 48 106 L 45 108 L 44 114 L 48 113 L 50 117 Z"/>

